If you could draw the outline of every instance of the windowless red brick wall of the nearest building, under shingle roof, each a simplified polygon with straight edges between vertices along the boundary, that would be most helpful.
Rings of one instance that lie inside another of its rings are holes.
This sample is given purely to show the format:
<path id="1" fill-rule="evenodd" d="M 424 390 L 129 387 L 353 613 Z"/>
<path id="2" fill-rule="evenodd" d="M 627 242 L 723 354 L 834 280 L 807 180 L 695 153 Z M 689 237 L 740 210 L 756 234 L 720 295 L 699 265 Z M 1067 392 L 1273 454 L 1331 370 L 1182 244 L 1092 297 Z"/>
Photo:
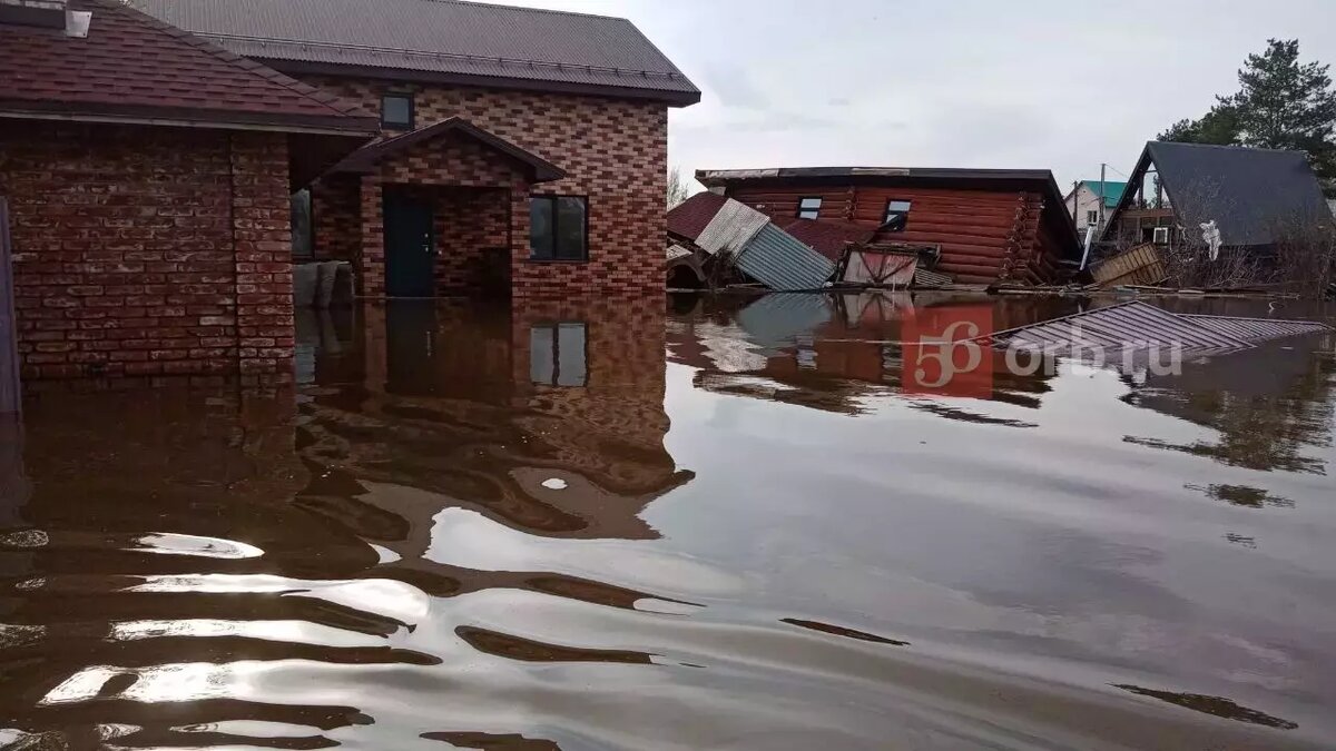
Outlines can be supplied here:
<path id="1" fill-rule="evenodd" d="M 0 124 L 27 378 L 290 374 L 282 135 Z"/>

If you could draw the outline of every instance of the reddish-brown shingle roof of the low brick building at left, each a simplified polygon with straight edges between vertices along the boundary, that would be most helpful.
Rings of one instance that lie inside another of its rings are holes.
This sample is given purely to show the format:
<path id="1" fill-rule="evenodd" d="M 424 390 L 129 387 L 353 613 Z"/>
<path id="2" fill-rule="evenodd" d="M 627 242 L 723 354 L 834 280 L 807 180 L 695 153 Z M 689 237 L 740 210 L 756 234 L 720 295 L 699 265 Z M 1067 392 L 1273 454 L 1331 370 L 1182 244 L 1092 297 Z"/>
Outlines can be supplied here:
<path id="1" fill-rule="evenodd" d="M 61 115 L 271 126 L 369 135 L 374 116 L 254 60 L 108 0 L 87 39 L 0 25 L 0 115 Z"/>

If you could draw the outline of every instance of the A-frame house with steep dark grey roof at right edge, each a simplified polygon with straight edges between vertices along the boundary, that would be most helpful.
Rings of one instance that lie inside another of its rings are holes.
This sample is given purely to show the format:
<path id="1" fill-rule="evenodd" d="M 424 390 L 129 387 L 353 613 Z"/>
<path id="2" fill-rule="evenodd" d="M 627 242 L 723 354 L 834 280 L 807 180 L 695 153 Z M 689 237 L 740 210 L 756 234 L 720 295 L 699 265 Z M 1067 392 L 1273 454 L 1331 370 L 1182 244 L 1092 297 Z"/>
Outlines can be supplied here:
<path id="1" fill-rule="evenodd" d="M 1102 241 L 1200 246 L 1212 220 L 1224 247 L 1267 247 L 1281 231 L 1331 226 L 1332 214 L 1299 151 L 1150 142 Z"/>

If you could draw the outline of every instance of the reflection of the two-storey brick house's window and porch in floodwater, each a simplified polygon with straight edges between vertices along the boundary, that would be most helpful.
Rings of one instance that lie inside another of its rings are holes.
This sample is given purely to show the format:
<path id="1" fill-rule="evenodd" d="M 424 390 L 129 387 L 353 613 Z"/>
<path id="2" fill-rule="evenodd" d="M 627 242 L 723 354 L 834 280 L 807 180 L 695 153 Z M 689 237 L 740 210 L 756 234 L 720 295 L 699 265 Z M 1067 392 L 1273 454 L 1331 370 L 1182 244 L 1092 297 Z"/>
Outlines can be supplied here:
<path id="1" fill-rule="evenodd" d="M 362 373 L 302 408 L 319 476 L 302 502 L 405 557 L 449 506 L 541 535 L 653 537 L 639 512 L 692 477 L 663 445 L 663 315 L 657 298 L 367 309 L 358 341 L 317 361 L 319 384 Z"/>

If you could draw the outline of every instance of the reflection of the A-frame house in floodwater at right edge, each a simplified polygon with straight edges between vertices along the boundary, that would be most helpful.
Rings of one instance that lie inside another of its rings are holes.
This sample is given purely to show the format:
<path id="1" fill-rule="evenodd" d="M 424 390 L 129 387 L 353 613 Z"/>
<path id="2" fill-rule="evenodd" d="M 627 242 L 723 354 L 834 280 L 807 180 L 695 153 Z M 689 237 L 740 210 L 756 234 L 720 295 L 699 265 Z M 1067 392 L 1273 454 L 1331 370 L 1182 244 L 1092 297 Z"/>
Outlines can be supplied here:
<path id="1" fill-rule="evenodd" d="M 1336 389 L 1336 335 L 1272 342 L 1206 362 L 1184 365 L 1180 376 L 1148 376 L 1126 401 L 1220 432 L 1212 444 L 1164 448 L 1248 469 L 1325 474 L 1312 448 L 1328 446 Z"/>

